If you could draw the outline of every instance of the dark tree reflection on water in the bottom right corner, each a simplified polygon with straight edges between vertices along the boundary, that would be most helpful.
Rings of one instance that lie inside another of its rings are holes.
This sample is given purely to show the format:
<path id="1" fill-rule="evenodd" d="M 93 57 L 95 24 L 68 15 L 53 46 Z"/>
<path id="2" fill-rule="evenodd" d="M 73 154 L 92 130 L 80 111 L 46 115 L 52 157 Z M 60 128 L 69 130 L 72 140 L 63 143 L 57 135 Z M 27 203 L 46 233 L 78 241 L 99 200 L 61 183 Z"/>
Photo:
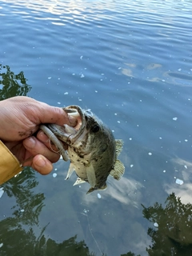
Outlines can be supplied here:
<path id="1" fill-rule="evenodd" d="M 143 216 L 158 228 L 149 228 L 147 234 L 152 246 L 146 248 L 150 256 L 192 255 L 192 205 L 183 204 L 174 193 L 166 199 L 166 206 L 156 202 L 143 207 Z"/>

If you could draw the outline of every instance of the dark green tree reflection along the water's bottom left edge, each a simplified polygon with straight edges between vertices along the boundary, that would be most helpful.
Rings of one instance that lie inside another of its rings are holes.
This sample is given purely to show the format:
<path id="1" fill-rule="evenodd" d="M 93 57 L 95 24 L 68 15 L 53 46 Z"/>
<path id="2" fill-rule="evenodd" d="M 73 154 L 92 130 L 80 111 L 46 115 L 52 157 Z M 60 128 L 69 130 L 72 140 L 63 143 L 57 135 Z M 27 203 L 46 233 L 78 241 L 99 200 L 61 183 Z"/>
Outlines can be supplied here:
<path id="1" fill-rule="evenodd" d="M 25 230 L 22 226 L 15 226 L 15 224 L 14 218 L 6 218 L 5 221 L 0 222 L 0 226 L 2 227 L 0 230 L 0 240 L 5 241 L 3 238 L 6 238 L 6 242 L 3 243 L 1 248 L 2 256 L 94 256 L 94 254 L 89 252 L 89 248 L 84 241 L 76 242 L 77 235 L 62 243 L 57 243 L 50 238 L 46 239 L 43 234 L 36 238 L 32 227 L 29 230 Z M 9 230 L 7 230 L 7 226 Z M 45 229 L 42 229 L 42 233 Z"/>

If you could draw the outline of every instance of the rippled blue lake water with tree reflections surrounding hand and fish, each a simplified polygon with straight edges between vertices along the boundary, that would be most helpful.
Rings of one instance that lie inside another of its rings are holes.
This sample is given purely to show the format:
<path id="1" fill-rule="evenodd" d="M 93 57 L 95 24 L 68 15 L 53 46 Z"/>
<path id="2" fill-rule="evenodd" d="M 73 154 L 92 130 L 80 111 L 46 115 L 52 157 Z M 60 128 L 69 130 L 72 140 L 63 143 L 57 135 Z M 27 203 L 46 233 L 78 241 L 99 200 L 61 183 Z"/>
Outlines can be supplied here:
<path id="1" fill-rule="evenodd" d="M 62 160 L 6 182 L 1 256 L 192 255 L 191 14 L 188 0 L 0 0 L 1 99 L 91 109 L 126 166 L 89 195 Z"/>

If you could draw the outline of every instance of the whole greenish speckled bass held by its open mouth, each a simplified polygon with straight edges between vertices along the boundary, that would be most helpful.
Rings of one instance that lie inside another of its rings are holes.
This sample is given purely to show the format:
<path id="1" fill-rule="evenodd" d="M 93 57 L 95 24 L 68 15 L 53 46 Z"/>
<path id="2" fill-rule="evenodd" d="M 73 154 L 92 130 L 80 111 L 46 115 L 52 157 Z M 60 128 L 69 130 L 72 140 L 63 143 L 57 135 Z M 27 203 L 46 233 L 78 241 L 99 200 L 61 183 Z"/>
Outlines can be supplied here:
<path id="1" fill-rule="evenodd" d="M 94 190 L 105 190 L 109 175 L 119 180 L 125 172 L 125 166 L 118 159 L 122 151 L 122 139 L 115 139 L 110 128 L 90 110 L 83 110 L 76 105 L 62 109 L 77 118 L 77 126 L 46 126 L 59 141 L 68 146 L 70 167 L 66 179 L 75 172 L 78 178 L 74 186 L 83 182 L 90 183 L 86 194 Z"/>

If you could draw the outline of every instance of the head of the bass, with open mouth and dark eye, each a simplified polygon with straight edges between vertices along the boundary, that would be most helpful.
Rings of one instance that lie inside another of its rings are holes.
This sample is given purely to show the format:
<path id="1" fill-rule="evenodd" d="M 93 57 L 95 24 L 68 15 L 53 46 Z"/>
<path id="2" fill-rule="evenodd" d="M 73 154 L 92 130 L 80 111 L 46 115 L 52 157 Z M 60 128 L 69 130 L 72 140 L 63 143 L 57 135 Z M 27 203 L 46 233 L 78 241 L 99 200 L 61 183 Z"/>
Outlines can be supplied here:
<path id="1" fill-rule="evenodd" d="M 75 105 L 67 106 L 63 110 L 77 118 L 77 125 L 71 127 L 50 124 L 48 127 L 62 142 L 74 147 L 78 154 L 90 154 L 91 152 L 93 154 L 94 151 L 100 154 L 106 150 L 105 142 L 107 141 L 111 142 L 111 146 L 114 145 L 114 136 L 111 130 L 90 110 L 82 110 L 80 106 Z"/>

